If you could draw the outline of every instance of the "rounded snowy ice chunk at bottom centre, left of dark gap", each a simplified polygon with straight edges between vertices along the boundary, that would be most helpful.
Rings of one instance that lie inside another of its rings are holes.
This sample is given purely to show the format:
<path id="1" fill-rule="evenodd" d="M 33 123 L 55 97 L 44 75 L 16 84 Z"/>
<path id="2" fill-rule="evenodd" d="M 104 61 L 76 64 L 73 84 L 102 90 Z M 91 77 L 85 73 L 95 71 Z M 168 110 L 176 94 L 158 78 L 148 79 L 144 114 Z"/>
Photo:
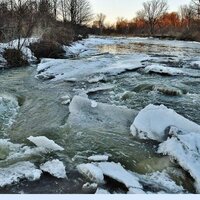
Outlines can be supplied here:
<path id="1" fill-rule="evenodd" d="M 94 164 L 80 164 L 77 166 L 78 171 L 95 183 L 104 183 L 102 170 Z"/>

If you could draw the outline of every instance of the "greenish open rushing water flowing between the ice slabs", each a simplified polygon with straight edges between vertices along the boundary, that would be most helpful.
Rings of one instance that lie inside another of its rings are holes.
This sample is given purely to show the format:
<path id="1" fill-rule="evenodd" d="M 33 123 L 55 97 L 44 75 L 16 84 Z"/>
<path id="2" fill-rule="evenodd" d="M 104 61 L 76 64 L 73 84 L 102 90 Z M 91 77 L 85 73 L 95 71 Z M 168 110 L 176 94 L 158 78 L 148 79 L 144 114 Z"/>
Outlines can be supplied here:
<path id="1" fill-rule="evenodd" d="M 146 39 L 129 44 L 100 45 L 98 49 L 101 53 L 109 52 L 119 57 L 145 53 L 151 57 L 148 61 L 150 63 L 167 64 L 170 67 L 184 68 L 195 75 L 200 74 L 200 68 L 194 69 L 194 66 L 190 65 L 200 53 L 200 45 L 197 43 L 177 42 L 174 45 L 173 41 Z M 37 182 L 21 181 L 2 188 L 1 193 L 85 193 L 81 189 L 85 178 L 76 171 L 76 166 L 95 154 L 106 153 L 111 156 L 111 160 L 139 173 L 156 171 L 166 166 L 176 167 L 167 157 L 156 153 L 155 142 L 136 140 L 129 131 L 70 128 L 66 125 L 69 108 L 62 105 L 61 97 L 65 94 L 73 96 L 74 88 L 90 88 L 91 84 L 84 81 L 42 81 L 36 79 L 35 75 L 36 66 L 0 72 L 0 96 L 12 96 L 17 99 L 19 105 L 18 114 L 14 116 L 15 122 L 10 128 L 5 128 L 0 121 L 1 137 L 26 145 L 31 145 L 27 141 L 29 136 L 43 135 L 54 140 L 64 147 L 63 152 L 48 154 L 42 158 L 26 157 L 22 160 L 39 164 L 51 158 L 59 158 L 66 165 L 68 180 L 59 180 L 45 174 Z M 104 82 L 114 84 L 113 91 L 90 93 L 89 98 L 107 104 L 127 106 L 136 111 L 150 103 L 164 104 L 200 124 L 198 76 L 162 76 L 147 74 L 139 69 L 109 76 Z M 92 87 L 97 85 L 98 83 L 93 83 Z M 12 163 L 17 161 L 19 160 L 16 159 Z M 151 168 L 147 168 L 147 165 Z M 0 167 L 5 167 L 5 163 L 0 161 Z M 186 187 L 193 191 L 190 186 Z"/>

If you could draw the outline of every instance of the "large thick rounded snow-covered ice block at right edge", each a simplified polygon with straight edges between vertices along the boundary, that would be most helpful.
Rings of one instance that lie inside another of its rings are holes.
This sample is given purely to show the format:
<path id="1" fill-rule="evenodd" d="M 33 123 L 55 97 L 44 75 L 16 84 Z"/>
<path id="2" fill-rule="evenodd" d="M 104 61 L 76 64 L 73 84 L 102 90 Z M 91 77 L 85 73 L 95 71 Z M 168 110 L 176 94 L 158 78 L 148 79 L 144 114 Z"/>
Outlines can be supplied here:
<path id="1" fill-rule="evenodd" d="M 168 137 L 166 128 L 170 126 L 175 126 L 187 133 L 200 133 L 198 124 L 184 118 L 164 105 L 155 106 L 152 104 L 139 112 L 130 129 L 133 136 L 162 142 Z"/>

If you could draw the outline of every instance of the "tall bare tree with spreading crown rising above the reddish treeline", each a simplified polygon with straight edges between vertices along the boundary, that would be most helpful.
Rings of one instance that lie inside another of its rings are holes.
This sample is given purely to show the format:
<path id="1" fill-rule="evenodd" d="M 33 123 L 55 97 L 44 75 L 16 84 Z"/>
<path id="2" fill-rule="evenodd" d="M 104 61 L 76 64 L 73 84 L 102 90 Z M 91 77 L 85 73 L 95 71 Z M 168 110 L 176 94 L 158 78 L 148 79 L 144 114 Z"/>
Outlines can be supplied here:
<path id="1" fill-rule="evenodd" d="M 148 23 L 151 35 L 154 35 L 159 18 L 167 12 L 167 9 L 166 0 L 151 0 L 143 3 L 143 9 L 138 14 Z"/>

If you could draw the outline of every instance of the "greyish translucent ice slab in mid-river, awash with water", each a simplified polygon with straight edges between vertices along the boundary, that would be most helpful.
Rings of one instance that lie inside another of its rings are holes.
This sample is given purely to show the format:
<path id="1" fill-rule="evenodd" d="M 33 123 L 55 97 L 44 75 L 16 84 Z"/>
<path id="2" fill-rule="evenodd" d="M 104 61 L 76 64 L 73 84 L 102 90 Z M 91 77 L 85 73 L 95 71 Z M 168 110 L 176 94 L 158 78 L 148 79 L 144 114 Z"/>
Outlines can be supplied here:
<path id="1" fill-rule="evenodd" d="M 91 108 L 91 100 L 80 96 L 72 99 L 69 111 L 67 123 L 71 127 L 116 132 L 127 132 L 132 119 L 136 116 L 134 110 L 115 105 L 98 103 L 97 107 Z"/>

